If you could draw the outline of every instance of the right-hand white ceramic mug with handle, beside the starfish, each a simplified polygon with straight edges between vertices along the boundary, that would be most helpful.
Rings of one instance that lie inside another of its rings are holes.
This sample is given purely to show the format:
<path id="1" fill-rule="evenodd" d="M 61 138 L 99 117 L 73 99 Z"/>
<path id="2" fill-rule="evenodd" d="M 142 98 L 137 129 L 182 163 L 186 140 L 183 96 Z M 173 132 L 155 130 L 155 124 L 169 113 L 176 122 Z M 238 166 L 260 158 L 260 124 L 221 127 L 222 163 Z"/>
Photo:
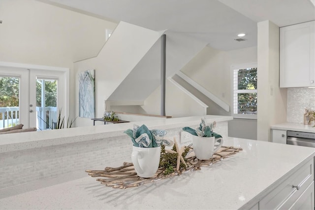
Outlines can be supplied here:
<path id="1" fill-rule="evenodd" d="M 220 141 L 219 145 L 215 145 L 217 141 Z M 192 136 L 193 151 L 199 160 L 209 160 L 222 144 L 222 138 Z"/>

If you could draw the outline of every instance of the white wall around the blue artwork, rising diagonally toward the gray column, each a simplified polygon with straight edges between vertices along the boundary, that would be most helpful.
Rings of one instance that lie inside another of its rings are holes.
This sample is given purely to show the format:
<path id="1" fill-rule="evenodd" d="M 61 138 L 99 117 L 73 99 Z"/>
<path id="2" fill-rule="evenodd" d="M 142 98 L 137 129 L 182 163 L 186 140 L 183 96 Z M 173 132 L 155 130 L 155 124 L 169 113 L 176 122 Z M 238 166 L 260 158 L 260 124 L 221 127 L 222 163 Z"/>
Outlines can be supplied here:
<path id="1" fill-rule="evenodd" d="M 75 74 L 95 69 L 95 117 L 103 117 L 105 101 L 154 45 L 163 32 L 120 22 L 97 57 L 74 64 Z M 76 81 L 78 81 L 76 79 Z M 132 84 L 129 88 L 132 88 Z M 76 82 L 76 113 L 79 84 Z M 76 126 L 91 125 L 90 118 L 78 118 Z"/>

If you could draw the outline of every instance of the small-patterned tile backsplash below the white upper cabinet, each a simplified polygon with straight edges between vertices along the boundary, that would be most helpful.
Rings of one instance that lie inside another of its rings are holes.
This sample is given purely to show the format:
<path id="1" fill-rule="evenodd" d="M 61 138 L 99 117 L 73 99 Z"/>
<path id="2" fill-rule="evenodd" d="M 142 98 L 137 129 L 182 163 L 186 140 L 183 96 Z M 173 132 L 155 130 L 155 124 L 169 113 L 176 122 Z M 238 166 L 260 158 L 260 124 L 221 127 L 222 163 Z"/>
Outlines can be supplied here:
<path id="1" fill-rule="evenodd" d="M 303 123 L 305 108 L 315 110 L 315 88 L 288 88 L 286 121 Z"/>

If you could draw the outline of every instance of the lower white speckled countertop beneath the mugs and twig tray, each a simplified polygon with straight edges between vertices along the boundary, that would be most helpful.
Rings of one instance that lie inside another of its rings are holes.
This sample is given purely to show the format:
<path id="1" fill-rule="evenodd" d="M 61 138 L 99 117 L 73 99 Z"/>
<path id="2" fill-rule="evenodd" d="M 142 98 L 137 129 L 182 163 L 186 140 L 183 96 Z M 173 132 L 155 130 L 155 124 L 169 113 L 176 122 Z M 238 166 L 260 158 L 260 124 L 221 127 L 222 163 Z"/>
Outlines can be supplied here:
<path id="1" fill-rule="evenodd" d="M 226 138 L 223 145 L 244 150 L 200 171 L 125 190 L 88 175 L 60 180 L 2 197 L 0 209 L 249 209 L 315 156 L 311 147 L 267 141 Z"/>

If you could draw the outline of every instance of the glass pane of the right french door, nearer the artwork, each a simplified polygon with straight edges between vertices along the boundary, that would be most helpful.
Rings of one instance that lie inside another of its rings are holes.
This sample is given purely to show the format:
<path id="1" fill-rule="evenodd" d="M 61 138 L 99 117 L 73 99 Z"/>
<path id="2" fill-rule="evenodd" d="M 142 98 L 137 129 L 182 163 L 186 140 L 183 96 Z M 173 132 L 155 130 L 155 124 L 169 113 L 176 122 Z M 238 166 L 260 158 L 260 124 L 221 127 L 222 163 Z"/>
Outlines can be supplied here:
<path id="1" fill-rule="evenodd" d="M 36 127 L 53 129 L 57 122 L 57 80 L 36 79 Z"/>

